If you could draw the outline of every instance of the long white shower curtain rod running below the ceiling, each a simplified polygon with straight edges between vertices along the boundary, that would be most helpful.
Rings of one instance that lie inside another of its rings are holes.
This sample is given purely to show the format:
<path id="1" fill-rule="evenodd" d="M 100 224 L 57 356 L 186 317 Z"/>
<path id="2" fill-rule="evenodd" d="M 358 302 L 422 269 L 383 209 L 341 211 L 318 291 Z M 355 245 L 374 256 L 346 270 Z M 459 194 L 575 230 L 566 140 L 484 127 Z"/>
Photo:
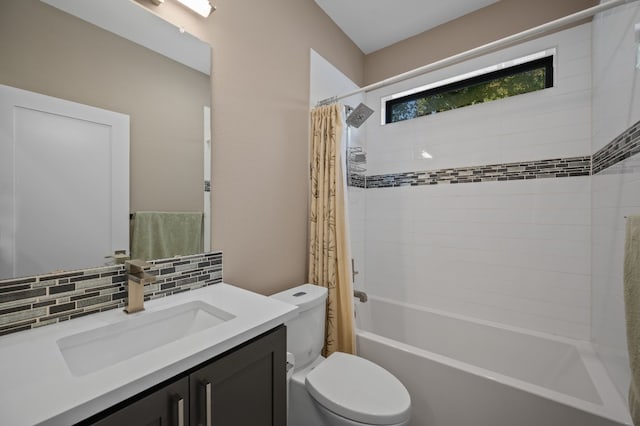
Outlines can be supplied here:
<path id="1" fill-rule="evenodd" d="M 404 80 L 408 80 L 412 77 L 416 77 L 422 74 L 426 74 L 431 71 L 435 71 L 440 68 L 444 68 L 449 65 L 454 65 L 459 62 L 462 62 L 466 59 L 470 59 L 485 53 L 492 52 L 498 48 L 506 47 L 513 43 L 526 40 L 528 38 L 532 38 L 534 36 L 542 35 L 543 33 L 551 32 L 562 28 L 566 25 L 573 24 L 575 22 L 581 21 L 586 18 L 590 18 L 597 13 L 604 12 L 605 10 L 612 9 L 614 7 L 620 6 L 626 3 L 633 3 L 637 0 L 611 0 L 606 3 L 599 4 L 597 6 L 590 7 L 588 9 L 582 10 L 580 12 L 573 13 L 571 15 L 567 15 L 563 18 L 556 19 L 551 22 L 547 22 L 546 24 L 538 25 L 537 27 L 530 28 L 528 30 L 519 32 L 517 34 L 510 35 L 508 37 L 501 38 L 496 41 L 492 41 L 490 43 L 484 44 L 482 46 L 466 50 L 464 52 L 458 53 L 453 56 L 449 56 L 448 58 L 441 59 L 439 61 L 432 62 L 430 64 L 424 65 L 419 68 L 415 68 L 413 70 L 404 72 L 402 74 L 398 74 L 396 76 L 381 80 L 377 83 L 370 84 L 368 86 L 361 87 L 357 90 L 353 90 L 351 92 L 344 93 L 342 95 L 333 96 L 331 98 L 323 99 L 318 102 L 319 105 L 331 104 L 340 99 L 348 98 L 349 96 L 357 95 L 360 93 L 370 92 L 372 90 L 380 89 L 382 87 L 389 86 L 391 84 L 399 83 Z"/>

